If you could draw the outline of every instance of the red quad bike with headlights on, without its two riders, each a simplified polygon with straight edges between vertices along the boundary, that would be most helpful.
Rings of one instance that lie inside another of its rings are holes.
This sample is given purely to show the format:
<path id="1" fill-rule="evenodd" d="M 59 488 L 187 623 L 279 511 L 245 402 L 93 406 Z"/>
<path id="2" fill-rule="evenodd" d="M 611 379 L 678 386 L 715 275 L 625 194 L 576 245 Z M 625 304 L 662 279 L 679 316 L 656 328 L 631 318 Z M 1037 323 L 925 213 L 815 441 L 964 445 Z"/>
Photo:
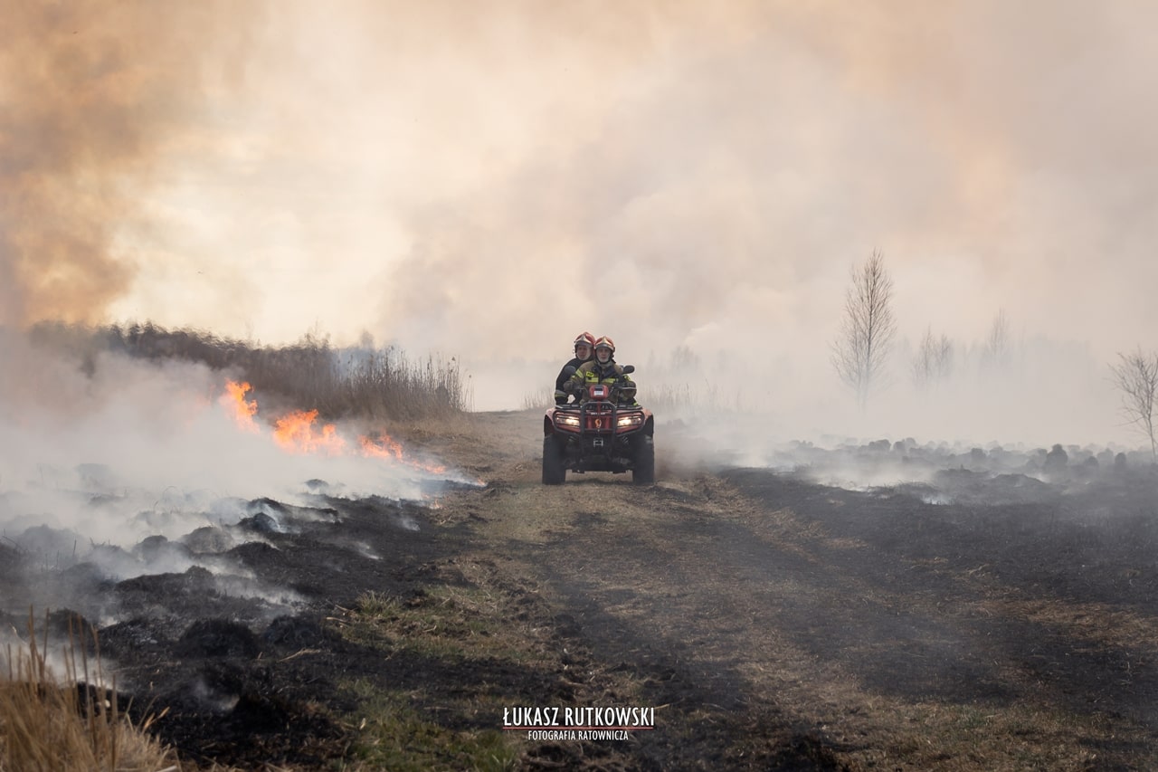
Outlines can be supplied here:
<path id="1" fill-rule="evenodd" d="M 623 374 L 635 370 L 624 365 Z M 586 402 L 556 405 L 543 416 L 543 485 L 562 483 L 567 469 L 631 472 L 636 485 L 655 482 L 654 417 L 639 406 L 620 405 L 620 392 L 635 384 L 621 379 L 584 388 Z"/>

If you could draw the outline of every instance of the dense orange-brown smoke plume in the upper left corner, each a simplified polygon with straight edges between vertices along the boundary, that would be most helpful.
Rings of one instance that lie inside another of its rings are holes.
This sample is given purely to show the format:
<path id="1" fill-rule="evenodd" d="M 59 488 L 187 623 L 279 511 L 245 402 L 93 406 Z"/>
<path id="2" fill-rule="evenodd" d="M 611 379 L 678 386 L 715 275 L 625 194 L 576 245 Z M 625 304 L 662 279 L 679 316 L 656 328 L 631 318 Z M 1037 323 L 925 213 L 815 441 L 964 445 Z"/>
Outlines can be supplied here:
<path id="1" fill-rule="evenodd" d="M 0 322 L 102 321 L 137 261 L 166 257 L 122 236 L 147 212 L 157 158 L 201 119 L 207 71 L 236 53 L 227 8 L 5 3 Z"/>

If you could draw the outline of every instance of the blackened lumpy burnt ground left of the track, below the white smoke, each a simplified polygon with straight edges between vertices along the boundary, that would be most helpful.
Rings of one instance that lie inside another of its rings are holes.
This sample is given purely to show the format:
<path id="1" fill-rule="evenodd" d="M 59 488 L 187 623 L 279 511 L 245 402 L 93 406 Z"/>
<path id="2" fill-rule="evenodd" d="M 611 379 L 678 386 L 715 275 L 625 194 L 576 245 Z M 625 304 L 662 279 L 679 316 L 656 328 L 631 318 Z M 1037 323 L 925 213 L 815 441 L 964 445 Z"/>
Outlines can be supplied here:
<path id="1" fill-rule="evenodd" d="M 105 495 L 93 495 L 94 510 Z M 7 529 L 0 633 L 22 646 L 31 613 L 57 644 L 72 629 L 90 653 L 98 646 L 105 678 L 140 715 L 162 715 L 156 733 L 185 759 L 309 767 L 337 758 L 347 731 L 318 708 L 343 707 L 339 679 L 388 668 L 324 620 L 365 592 L 412 592 L 446 534 L 420 503 L 313 498 L 211 502 L 203 515 L 212 524 L 129 547 L 44 525 Z M 140 515 L 157 518 L 171 531 L 171 512 Z"/>

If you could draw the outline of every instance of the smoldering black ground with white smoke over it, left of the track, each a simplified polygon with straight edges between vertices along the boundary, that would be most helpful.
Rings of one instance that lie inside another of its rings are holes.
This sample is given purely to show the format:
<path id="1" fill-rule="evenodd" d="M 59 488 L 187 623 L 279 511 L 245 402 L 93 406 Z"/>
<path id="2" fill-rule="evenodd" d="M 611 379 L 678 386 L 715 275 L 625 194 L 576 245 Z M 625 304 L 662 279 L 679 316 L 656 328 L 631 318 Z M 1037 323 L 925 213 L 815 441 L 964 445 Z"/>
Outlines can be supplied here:
<path id="1" fill-rule="evenodd" d="M 78 653 L 98 654 L 100 673 L 76 677 L 115 685 L 122 711 L 134 695 L 163 714 L 153 731 L 186 759 L 210 734 L 249 738 L 251 750 L 228 751 L 237 763 L 339 753 L 329 744 L 343 730 L 314 718 L 307 694 L 254 682 L 250 660 L 317 646 L 335 603 L 401 592 L 431 553 L 431 496 L 477 482 L 401 445 L 365 456 L 353 424 L 299 428 L 294 439 L 328 445 L 287 447 L 261 394 L 239 414 L 232 373 L 179 357 L 67 351 L 10 329 L 0 352 L 3 664 L 39 651 L 64 678 Z M 317 697 L 314 676 L 290 678 Z M 296 748 L 271 750 L 254 715 L 280 716 L 277 734 L 292 727 Z"/>

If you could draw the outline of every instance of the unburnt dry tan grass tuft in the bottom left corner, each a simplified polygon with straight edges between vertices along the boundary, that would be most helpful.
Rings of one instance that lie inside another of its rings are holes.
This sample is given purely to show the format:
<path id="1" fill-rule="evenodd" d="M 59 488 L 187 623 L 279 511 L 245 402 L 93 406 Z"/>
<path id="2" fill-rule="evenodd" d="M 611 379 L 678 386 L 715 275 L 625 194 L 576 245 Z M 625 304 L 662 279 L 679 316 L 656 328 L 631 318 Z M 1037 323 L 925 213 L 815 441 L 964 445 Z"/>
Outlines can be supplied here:
<path id="1" fill-rule="evenodd" d="M 149 735 L 152 719 L 133 723 L 116 690 L 100 686 L 100 658 L 90 661 L 72 632 L 63 673 L 50 668 L 46 651 L 47 635 L 38 646 L 30 616 L 27 647 L 8 646 L 7 676 L 0 682 L 0 770 L 179 769 L 173 752 Z"/>

